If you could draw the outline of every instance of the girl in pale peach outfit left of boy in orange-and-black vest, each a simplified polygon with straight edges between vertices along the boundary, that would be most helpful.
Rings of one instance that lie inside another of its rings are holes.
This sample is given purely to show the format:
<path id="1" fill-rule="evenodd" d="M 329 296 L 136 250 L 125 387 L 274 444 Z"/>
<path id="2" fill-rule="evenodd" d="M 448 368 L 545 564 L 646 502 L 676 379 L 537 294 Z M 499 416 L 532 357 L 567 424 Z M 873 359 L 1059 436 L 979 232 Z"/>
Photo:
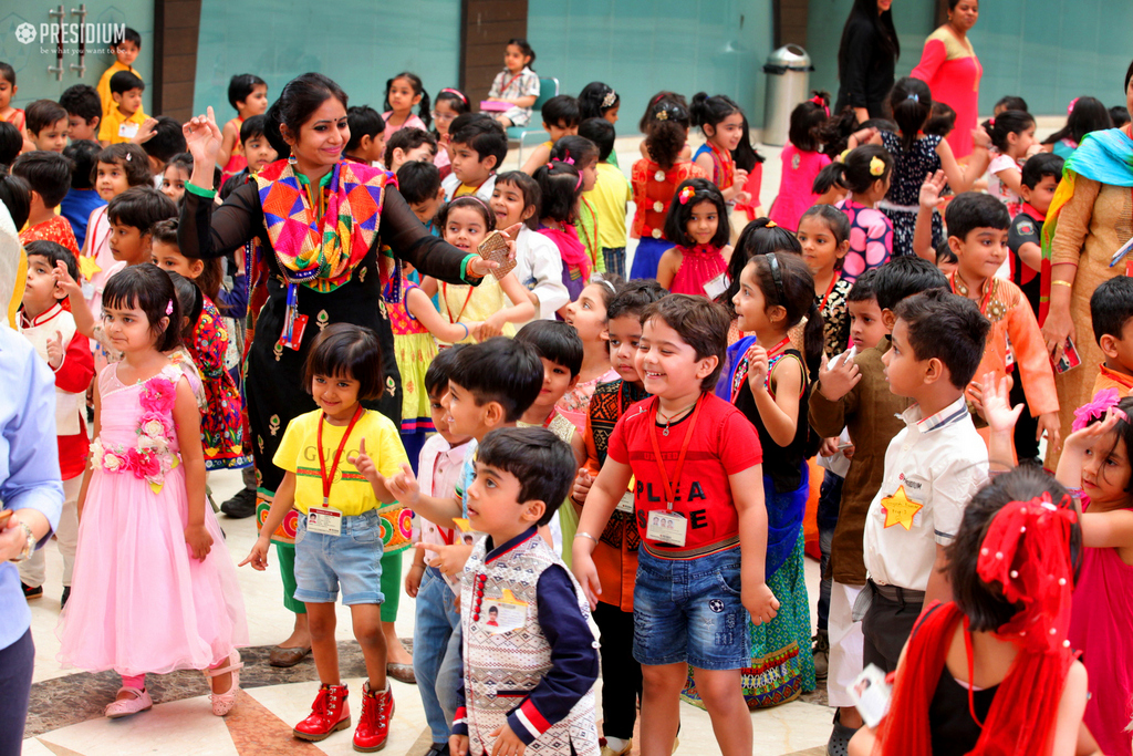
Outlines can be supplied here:
<path id="1" fill-rule="evenodd" d="M 582 369 L 578 383 L 559 400 L 559 411 L 578 427 L 586 430 L 586 409 L 590 397 L 599 383 L 617 379 L 610 366 L 610 342 L 606 332 L 606 311 L 617 294 L 620 279 L 611 275 L 595 275 L 579 294 L 578 299 L 566 305 L 564 320 L 574 326 L 582 340 Z"/>

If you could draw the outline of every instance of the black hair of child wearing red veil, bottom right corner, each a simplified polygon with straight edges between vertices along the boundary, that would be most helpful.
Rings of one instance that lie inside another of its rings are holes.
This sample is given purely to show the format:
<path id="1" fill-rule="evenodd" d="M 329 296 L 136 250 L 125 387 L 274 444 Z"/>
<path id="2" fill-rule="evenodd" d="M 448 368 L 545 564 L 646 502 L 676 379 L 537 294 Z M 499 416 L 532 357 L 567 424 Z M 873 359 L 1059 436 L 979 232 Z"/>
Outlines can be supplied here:
<path id="1" fill-rule="evenodd" d="M 1013 603 L 1004 598 L 998 580 L 987 583 L 980 577 L 980 552 L 991 521 L 1004 507 L 1012 502 L 1031 501 L 1042 494 L 1048 494 L 1055 506 L 1068 506 L 1070 493 L 1058 481 L 1024 465 L 993 477 L 964 506 L 956 536 L 945 546 L 948 559 L 945 570 L 952 585 L 953 601 L 966 615 L 972 632 L 994 632 L 1022 611 L 1022 602 Z M 1043 554 L 1043 559 L 1065 558 L 1076 579 L 1082 555 L 1082 527 L 1077 518 L 1066 527 L 1070 529 L 1070 542 L 1065 555 Z M 1020 547 L 1015 554 L 1012 567 L 1019 566 L 1019 560 L 1028 559 L 1031 550 Z"/>

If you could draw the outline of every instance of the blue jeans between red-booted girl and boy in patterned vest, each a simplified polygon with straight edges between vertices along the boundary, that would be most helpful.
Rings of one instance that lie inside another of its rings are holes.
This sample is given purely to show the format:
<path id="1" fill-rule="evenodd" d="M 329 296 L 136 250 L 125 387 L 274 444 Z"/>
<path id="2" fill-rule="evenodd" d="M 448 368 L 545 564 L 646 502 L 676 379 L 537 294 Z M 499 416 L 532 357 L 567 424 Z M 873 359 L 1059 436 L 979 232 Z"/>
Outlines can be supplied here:
<path id="1" fill-rule="evenodd" d="M 438 673 L 445 661 L 445 651 L 453 630 L 460 628 L 457 596 L 449 584 L 433 567 L 425 568 L 417 592 L 417 617 L 414 625 L 414 674 L 425 706 L 425 721 L 433 733 L 433 742 L 449 742 L 454 711 L 445 713 L 441 700 L 455 695 L 455 688 L 442 691 L 437 687 Z M 459 636 L 459 632 L 457 634 Z M 454 707 L 453 707 L 454 708 Z"/>

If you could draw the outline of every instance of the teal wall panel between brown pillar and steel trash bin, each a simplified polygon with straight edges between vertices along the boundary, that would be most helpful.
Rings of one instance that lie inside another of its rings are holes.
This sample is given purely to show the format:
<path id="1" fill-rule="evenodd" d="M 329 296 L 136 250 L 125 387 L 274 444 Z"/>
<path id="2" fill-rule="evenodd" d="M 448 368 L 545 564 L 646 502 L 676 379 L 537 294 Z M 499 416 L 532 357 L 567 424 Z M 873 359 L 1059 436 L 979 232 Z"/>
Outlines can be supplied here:
<path id="1" fill-rule="evenodd" d="M 763 124 L 770 0 L 530 0 L 527 36 L 563 93 L 594 80 L 617 91 L 620 134 L 637 131 L 661 90 L 723 93 Z"/>

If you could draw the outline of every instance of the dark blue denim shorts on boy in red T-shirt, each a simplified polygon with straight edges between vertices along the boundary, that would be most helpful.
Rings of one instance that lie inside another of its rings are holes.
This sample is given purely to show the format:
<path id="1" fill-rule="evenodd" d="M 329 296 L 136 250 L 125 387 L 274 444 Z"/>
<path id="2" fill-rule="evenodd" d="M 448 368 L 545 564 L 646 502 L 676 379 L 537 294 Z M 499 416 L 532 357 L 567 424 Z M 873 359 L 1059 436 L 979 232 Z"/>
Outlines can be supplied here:
<path id="1" fill-rule="evenodd" d="M 740 549 L 689 560 L 638 552 L 633 659 L 701 670 L 751 663 L 748 610 L 740 601 Z"/>

